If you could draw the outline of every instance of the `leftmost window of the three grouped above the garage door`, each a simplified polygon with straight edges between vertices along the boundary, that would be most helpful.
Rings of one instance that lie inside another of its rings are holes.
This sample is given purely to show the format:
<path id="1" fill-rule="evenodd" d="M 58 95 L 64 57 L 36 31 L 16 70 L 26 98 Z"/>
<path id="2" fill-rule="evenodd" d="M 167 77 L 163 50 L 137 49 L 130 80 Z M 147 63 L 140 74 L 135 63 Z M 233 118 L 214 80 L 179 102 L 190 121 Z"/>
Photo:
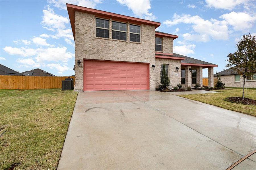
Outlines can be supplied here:
<path id="1" fill-rule="evenodd" d="M 96 18 L 96 37 L 109 38 L 109 20 Z"/>

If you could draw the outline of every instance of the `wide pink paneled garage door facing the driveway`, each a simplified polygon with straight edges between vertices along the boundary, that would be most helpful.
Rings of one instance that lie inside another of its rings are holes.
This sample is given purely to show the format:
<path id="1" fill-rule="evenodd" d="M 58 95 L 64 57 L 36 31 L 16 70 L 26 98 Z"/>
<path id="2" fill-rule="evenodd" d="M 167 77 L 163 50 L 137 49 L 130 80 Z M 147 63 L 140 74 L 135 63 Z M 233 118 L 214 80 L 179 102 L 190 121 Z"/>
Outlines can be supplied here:
<path id="1" fill-rule="evenodd" d="M 148 90 L 148 63 L 84 60 L 84 91 Z"/>

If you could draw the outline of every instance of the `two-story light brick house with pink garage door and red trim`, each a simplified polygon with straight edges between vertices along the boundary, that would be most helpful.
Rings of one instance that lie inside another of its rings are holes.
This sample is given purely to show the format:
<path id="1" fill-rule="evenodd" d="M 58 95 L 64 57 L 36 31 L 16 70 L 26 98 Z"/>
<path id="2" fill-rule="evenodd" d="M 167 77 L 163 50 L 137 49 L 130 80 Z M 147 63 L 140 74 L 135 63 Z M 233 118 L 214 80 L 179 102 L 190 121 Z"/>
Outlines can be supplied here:
<path id="1" fill-rule="evenodd" d="M 177 35 L 155 31 L 160 22 L 67 4 L 75 39 L 75 90 L 155 90 L 166 71 L 172 87 L 202 84 L 218 65 L 173 53 Z M 77 61 L 80 61 L 80 66 Z"/>

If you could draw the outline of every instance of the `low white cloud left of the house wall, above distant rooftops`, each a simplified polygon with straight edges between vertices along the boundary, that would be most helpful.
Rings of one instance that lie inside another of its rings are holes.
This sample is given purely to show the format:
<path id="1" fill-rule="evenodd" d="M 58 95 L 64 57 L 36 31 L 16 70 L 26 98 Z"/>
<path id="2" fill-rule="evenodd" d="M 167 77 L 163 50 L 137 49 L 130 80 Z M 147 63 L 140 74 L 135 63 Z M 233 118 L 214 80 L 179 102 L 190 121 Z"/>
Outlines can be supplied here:
<path id="1" fill-rule="evenodd" d="M 62 61 L 67 62 L 69 59 L 73 58 L 74 54 L 67 51 L 67 47 L 56 47 L 56 48 L 46 48 L 38 50 L 36 54 L 36 61 L 38 63 L 44 63 L 45 61 Z"/>

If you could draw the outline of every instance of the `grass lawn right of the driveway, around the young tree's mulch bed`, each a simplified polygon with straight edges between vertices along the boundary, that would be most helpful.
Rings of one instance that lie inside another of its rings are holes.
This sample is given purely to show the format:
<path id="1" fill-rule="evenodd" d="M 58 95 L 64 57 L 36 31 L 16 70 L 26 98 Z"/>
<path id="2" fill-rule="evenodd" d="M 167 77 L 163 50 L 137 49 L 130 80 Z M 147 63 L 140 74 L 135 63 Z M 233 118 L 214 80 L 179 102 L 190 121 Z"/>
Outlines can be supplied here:
<path id="1" fill-rule="evenodd" d="M 228 88 L 230 90 L 214 90 L 222 93 L 179 95 L 188 99 L 200 101 L 224 109 L 256 116 L 256 106 L 242 105 L 225 101 L 226 97 L 242 97 L 242 88 Z M 256 88 L 245 88 L 245 97 L 256 100 Z"/>

